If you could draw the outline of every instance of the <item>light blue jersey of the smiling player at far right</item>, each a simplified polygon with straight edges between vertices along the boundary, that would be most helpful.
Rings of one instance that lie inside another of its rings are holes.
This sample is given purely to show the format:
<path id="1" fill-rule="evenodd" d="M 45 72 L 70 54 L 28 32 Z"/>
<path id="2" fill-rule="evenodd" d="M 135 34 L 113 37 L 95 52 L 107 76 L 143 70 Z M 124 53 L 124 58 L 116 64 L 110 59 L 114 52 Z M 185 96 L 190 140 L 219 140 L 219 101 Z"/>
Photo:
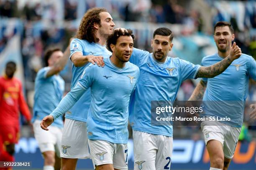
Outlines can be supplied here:
<path id="1" fill-rule="evenodd" d="M 218 53 L 206 56 L 202 59 L 202 66 L 210 66 L 221 60 L 223 58 Z M 205 116 L 228 117 L 230 121 L 222 123 L 241 127 L 249 78 L 256 80 L 256 62 L 246 54 L 234 60 L 222 74 L 211 79 L 203 78 L 203 81 L 207 81 L 203 96 Z"/>

